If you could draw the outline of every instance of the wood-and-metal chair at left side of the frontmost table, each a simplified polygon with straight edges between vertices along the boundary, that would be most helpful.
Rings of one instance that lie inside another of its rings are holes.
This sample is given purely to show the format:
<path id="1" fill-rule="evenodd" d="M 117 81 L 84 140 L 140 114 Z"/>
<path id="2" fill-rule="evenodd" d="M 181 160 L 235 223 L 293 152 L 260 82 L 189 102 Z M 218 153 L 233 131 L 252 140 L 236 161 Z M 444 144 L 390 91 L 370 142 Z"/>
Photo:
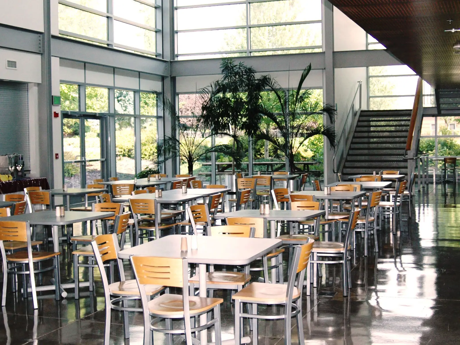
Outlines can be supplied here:
<path id="1" fill-rule="evenodd" d="M 101 273 L 102 285 L 104 287 L 105 297 L 105 332 L 104 332 L 104 345 L 109 345 L 110 337 L 110 316 L 111 311 L 117 310 L 123 312 L 123 328 L 125 339 L 129 338 L 129 311 L 140 311 L 142 308 L 129 308 L 127 301 L 132 299 L 141 299 L 139 287 L 135 279 L 126 280 L 125 271 L 121 259 L 118 259 L 118 252 L 120 250 L 115 234 L 96 236 L 94 241 L 91 242 L 92 255 L 96 259 L 97 267 Z M 105 271 L 104 263 L 107 261 L 115 261 L 120 274 L 120 282 L 112 282 L 109 284 L 107 274 Z M 95 265 L 92 265 L 93 267 Z M 148 285 L 144 288 L 146 296 L 153 297 L 165 290 L 161 285 Z M 122 306 L 119 306 L 119 304 Z M 144 343 L 148 344 L 148 343 Z"/>

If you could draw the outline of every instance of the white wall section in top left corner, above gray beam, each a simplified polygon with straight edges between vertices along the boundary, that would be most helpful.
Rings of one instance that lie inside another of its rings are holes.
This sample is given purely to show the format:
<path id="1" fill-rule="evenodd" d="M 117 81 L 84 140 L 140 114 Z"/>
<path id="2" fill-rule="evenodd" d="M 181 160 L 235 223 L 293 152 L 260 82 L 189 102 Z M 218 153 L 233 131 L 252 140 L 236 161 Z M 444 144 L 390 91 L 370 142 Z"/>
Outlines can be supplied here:
<path id="1" fill-rule="evenodd" d="M 0 23 L 43 32 L 43 0 L 0 0 Z"/>

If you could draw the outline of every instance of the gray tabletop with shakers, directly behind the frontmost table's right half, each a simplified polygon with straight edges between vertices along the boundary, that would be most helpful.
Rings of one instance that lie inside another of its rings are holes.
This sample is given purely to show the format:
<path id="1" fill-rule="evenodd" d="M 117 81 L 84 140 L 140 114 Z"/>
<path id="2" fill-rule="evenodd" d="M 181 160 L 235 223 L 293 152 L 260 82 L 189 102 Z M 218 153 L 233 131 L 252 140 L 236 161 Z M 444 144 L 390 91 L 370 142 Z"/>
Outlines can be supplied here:
<path id="1" fill-rule="evenodd" d="M 235 212 L 217 213 L 215 219 L 224 219 L 227 217 L 252 217 L 252 218 L 266 218 L 267 220 L 287 220 L 287 221 L 302 221 L 307 219 L 322 216 L 324 211 L 312 210 L 270 210 L 269 214 L 260 214 L 259 210 L 239 210 Z"/>

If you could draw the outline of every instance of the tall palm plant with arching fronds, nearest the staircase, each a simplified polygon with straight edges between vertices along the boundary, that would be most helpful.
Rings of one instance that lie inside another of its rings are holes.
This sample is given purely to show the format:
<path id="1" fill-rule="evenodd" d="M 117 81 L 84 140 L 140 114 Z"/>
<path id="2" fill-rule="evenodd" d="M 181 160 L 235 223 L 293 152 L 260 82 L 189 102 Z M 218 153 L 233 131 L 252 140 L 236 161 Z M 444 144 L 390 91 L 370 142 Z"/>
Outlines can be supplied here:
<path id="1" fill-rule="evenodd" d="M 269 118 L 276 129 L 260 128 L 254 135 L 253 140 L 266 140 L 271 143 L 275 150 L 281 152 L 289 163 L 289 172 L 295 173 L 294 156 L 305 142 L 315 136 L 323 135 L 335 148 L 335 128 L 324 125 L 322 116 L 327 115 L 334 123 L 336 111 L 331 104 L 322 104 L 311 100 L 311 92 L 302 90 L 305 79 L 311 71 L 311 64 L 304 69 L 296 90 L 286 91 L 274 79 L 270 78 L 268 88 L 273 92 L 279 103 L 279 112 L 272 111 L 263 105 L 261 113 Z"/>

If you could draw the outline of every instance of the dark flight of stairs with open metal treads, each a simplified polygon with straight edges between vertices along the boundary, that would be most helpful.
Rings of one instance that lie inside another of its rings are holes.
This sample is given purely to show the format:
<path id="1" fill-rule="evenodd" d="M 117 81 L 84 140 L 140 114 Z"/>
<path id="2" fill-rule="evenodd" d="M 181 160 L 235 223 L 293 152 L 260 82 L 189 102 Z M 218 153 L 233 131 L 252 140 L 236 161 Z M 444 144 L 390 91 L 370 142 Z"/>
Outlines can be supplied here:
<path id="1" fill-rule="evenodd" d="M 399 170 L 407 175 L 403 159 L 411 110 L 362 110 L 342 169 L 344 180 L 359 173 Z"/>

